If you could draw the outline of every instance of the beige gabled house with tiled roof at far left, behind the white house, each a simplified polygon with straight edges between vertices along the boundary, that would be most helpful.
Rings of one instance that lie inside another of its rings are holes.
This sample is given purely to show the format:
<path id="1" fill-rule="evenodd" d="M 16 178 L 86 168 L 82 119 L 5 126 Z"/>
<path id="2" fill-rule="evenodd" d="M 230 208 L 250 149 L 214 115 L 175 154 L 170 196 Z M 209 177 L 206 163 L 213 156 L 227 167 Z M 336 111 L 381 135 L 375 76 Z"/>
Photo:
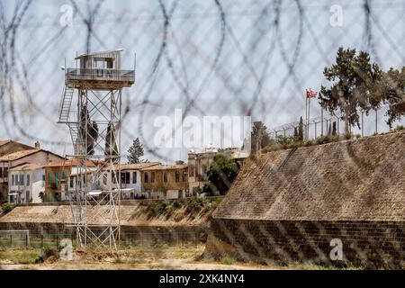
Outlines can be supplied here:
<path id="1" fill-rule="evenodd" d="M 9 169 L 27 163 L 45 166 L 62 159 L 63 157 L 60 157 L 55 153 L 41 149 L 39 143 L 36 144 L 36 148 L 24 149 L 6 154 L 0 157 L 0 168 L 2 170 L 0 184 L 2 184 L 3 189 L 5 188 L 5 193 L 8 193 L 8 182 L 10 180 L 8 175 Z M 8 199 L 8 196 L 6 198 Z"/>

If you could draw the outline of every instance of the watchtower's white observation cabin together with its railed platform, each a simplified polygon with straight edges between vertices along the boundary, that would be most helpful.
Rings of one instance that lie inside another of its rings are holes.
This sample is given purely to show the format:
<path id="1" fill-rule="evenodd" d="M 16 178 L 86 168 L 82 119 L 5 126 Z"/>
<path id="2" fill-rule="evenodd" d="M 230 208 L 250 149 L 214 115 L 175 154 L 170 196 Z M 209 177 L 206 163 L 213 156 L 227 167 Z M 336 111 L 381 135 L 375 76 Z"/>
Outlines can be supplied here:
<path id="1" fill-rule="evenodd" d="M 122 49 L 83 54 L 77 68 L 67 68 L 65 84 L 74 88 L 109 90 L 130 87 L 135 70 L 121 70 Z"/>

